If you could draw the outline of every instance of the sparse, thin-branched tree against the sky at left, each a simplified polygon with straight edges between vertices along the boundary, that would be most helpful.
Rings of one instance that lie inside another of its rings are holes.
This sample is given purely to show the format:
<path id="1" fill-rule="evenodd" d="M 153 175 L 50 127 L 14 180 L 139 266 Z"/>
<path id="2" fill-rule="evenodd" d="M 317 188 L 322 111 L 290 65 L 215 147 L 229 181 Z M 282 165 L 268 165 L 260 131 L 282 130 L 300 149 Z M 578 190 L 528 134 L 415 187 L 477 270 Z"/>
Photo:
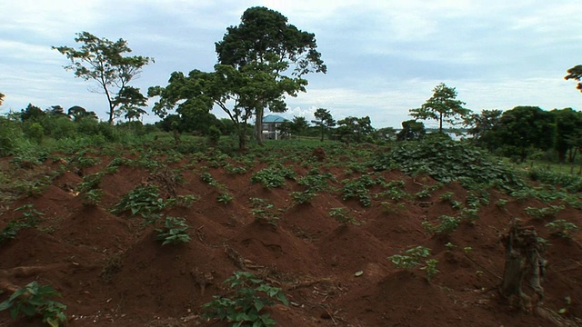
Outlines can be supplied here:
<path id="1" fill-rule="evenodd" d="M 146 105 L 146 97 L 129 83 L 153 59 L 141 55 L 124 56 L 132 50 L 121 38 L 113 42 L 82 32 L 77 33 L 75 42 L 82 44 L 80 49 L 69 46 L 53 46 L 53 49 L 71 61 L 65 69 L 75 71 L 75 77 L 97 82 L 99 87 L 92 92 L 103 92 L 107 97 L 109 124 L 114 124 L 116 116 Z"/>

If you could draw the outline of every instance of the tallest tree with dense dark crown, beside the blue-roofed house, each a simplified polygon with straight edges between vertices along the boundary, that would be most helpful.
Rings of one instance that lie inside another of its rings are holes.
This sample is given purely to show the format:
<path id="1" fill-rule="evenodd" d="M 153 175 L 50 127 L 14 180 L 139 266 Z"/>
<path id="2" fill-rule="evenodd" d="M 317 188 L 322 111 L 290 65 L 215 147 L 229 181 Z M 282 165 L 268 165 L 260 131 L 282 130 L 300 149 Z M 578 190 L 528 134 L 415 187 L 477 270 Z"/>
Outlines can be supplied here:
<path id="1" fill-rule="evenodd" d="M 321 54 L 316 51 L 314 34 L 287 23 L 287 18 L 266 7 L 250 7 L 241 17 L 241 24 L 226 28 L 222 41 L 216 43 L 220 64 L 232 65 L 249 78 L 262 80 L 265 88 L 239 90 L 239 104 L 255 114 L 256 140 L 262 144 L 263 114 L 286 111 L 286 95 L 306 92 L 311 72 L 326 73 Z M 286 75 L 289 68 L 292 73 Z"/>

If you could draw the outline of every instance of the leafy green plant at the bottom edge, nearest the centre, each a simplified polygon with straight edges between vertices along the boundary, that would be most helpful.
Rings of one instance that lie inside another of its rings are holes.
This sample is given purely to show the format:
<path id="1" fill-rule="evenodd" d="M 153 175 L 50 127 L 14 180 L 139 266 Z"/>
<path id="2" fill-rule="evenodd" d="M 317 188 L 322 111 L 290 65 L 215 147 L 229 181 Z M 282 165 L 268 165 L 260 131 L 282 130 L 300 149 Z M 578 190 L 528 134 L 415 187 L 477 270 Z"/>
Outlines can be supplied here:
<path id="1" fill-rule="evenodd" d="M 229 297 L 215 295 L 214 300 L 203 305 L 205 317 L 232 322 L 232 326 L 269 327 L 276 321 L 269 313 L 261 313 L 276 301 L 289 305 L 285 293 L 256 277 L 251 272 L 234 272 L 226 279 Z M 276 301 L 274 301 L 276 300 Z"/>

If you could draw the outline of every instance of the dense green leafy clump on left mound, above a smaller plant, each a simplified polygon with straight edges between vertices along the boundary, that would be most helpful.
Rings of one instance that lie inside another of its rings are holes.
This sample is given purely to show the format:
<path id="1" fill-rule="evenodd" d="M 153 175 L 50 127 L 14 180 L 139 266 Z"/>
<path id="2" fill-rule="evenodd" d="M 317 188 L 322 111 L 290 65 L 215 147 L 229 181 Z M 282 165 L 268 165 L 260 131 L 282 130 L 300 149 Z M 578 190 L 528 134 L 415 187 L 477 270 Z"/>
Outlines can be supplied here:
<path id="1" fill-rule="evenodd" d="M 154 184 L 144 184 L 126 193 L 121 201 L 115 204 L 112 213 L 125 213 L 130 211 L 132 216 L 137 214 L 146 218 L 146 222 L 152 223 L 160 217 L 159 212 L 166 208 L 164 199 Z"/>

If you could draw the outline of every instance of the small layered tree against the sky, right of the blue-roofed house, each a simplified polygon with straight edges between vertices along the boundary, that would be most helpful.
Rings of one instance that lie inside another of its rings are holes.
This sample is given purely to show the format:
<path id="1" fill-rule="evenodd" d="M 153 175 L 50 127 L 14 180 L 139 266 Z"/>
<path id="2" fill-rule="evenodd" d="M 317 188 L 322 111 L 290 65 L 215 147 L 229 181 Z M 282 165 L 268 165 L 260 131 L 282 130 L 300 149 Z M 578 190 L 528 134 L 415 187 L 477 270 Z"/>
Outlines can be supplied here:
<path id="1" fill-rule="evenodd" d="M 454 87 L 441 83 L 433 89 L 433 92 L 433 96 L 420 108 L 410 109 L 410 115 L 415 119 L 438 121 L 438 132 L 443 133 L 443 122 L 455 124 L 457 119 L 465 117 L 469 110 L 463 107 L 464 102 L 457 100 L 457 90 Z"/>

